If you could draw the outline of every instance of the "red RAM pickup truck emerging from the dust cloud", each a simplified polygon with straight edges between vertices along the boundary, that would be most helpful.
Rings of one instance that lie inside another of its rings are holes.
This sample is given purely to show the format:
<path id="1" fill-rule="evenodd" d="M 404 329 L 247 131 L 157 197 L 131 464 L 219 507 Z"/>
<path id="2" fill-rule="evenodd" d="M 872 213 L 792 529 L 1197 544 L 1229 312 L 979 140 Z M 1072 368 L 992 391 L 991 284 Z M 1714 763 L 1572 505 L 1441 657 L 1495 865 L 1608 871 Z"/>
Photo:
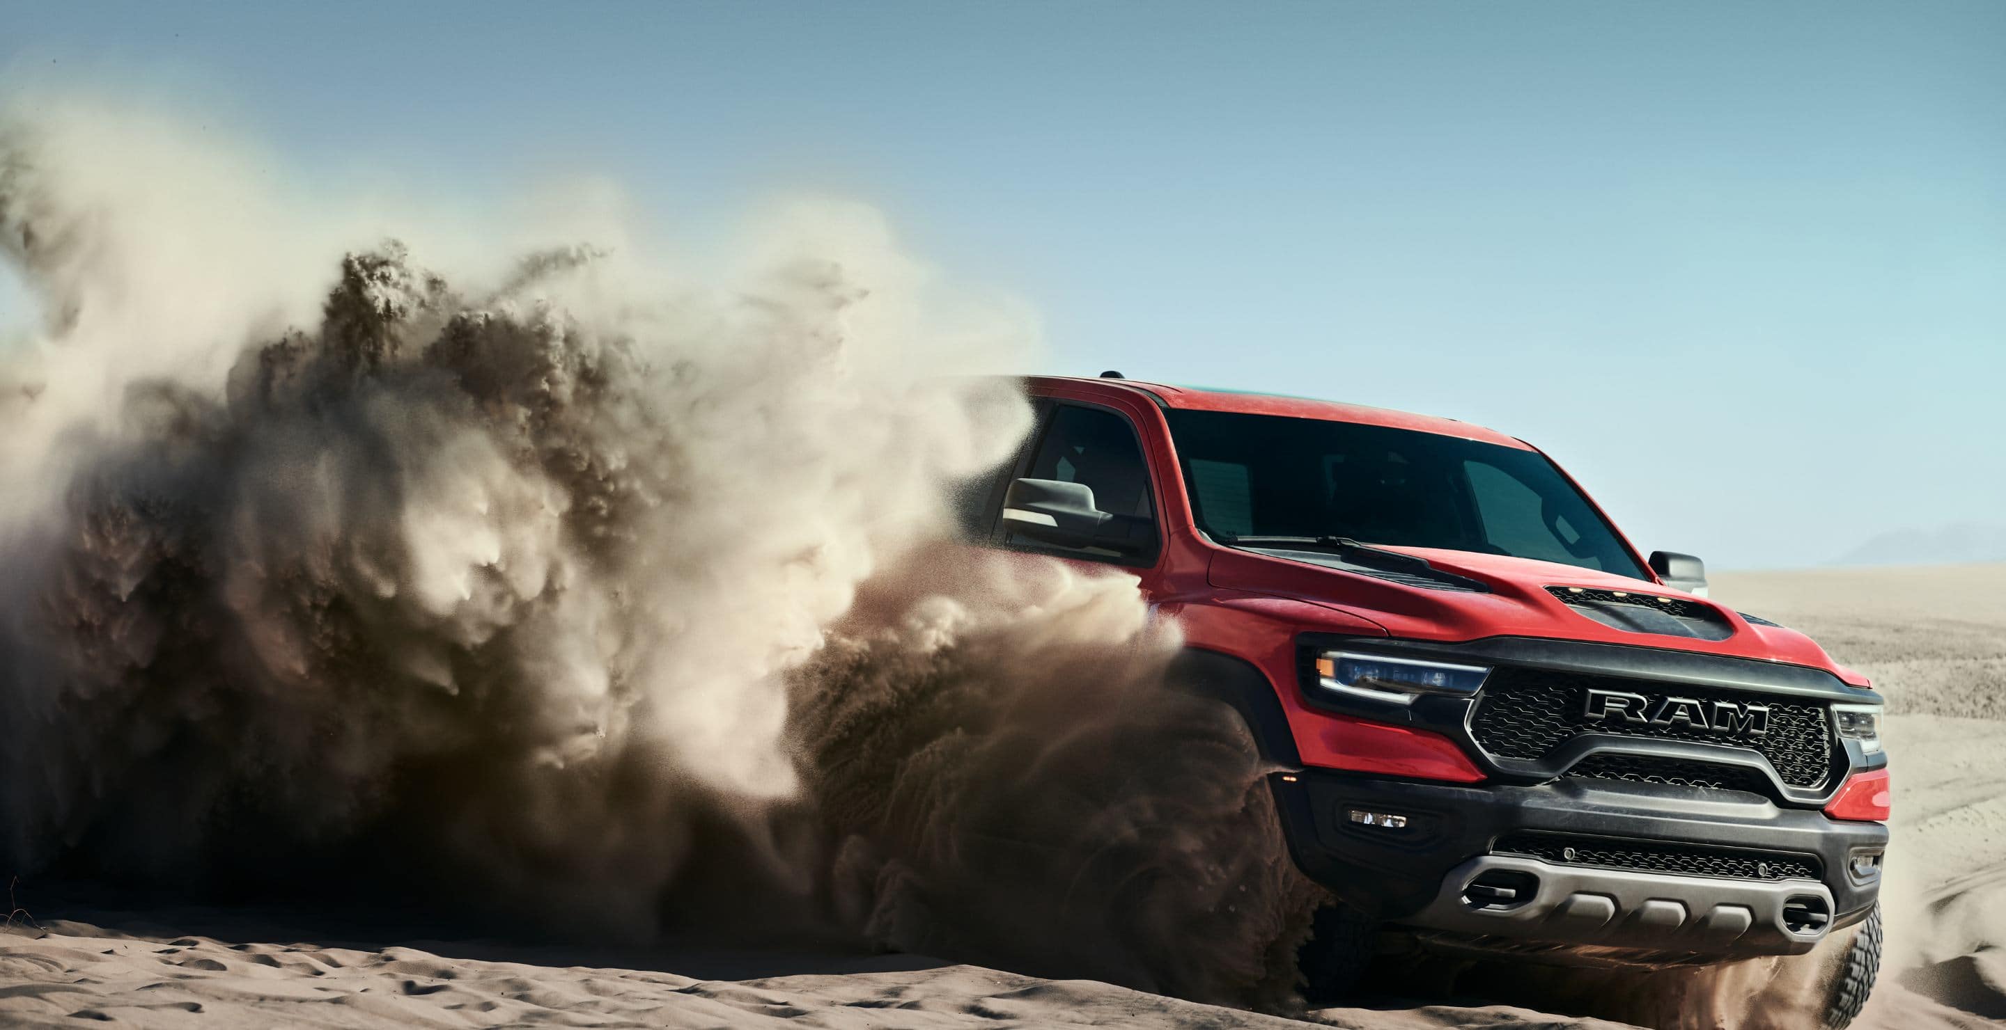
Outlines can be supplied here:
<path id="1" fill-rule="evenodd" d="M 1125 567 L 1182 623 L 1178 681 L 1246 719 L 1336 898 L 1312 984 L 1388 930 L 1601 968 L 1825 946 L 1821 1024 L 1858 1014 L 1888 846 L 1866 677 L 1709 601 L 1697 559 L 1639 555 L 1502 433 L 1113 373 L 1027 389 L 1037 431 L 969 527 Z"/>

